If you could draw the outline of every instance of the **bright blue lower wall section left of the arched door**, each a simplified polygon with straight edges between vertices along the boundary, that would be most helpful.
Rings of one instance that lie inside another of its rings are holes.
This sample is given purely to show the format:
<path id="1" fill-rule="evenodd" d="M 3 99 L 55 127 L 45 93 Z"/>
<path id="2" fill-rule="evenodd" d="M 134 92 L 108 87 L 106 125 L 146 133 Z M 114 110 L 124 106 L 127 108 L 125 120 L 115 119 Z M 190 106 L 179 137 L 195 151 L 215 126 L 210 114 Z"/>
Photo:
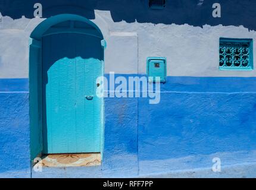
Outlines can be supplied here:
<path id="1" fill-rule="evenodd" d="M 30 178 L 27 79 L 0 80 L 0 178 Z"/>

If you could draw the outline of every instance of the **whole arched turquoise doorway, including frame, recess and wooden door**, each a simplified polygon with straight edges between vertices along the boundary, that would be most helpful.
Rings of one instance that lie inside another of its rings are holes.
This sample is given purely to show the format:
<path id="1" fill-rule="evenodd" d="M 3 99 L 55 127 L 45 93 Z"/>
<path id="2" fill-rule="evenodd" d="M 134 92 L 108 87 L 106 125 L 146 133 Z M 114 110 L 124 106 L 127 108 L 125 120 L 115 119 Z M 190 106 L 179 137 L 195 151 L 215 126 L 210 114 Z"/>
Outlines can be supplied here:
<path id="1" fill-rule="evenodd" d="M 32 159 L 40 153 L 102 152 L 104 38 L 84 17 L 64 14 L 39 24 L 30 36 Z"/>

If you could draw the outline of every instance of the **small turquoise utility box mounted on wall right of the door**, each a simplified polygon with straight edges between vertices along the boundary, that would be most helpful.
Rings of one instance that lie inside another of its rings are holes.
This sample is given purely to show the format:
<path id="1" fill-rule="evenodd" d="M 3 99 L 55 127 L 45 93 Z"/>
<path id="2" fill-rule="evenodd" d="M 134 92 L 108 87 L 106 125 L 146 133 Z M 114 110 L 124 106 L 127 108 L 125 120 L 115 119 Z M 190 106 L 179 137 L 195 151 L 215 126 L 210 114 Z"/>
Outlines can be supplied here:
<path id="1" fill-rule="evenodd" d="M 160 77 L 160 83 L 166 83 L 166 58 L 148 58 L 146 66 L 149 82 L 156 82 L 156 77 Z"/>

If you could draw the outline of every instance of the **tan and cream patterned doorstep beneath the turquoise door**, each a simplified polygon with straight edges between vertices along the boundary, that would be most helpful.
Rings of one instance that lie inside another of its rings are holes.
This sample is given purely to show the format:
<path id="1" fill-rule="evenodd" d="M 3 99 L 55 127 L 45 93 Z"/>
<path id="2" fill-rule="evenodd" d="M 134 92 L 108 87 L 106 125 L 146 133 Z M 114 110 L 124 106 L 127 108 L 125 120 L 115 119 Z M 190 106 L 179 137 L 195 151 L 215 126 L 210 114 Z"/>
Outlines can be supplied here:
<path id="1" fill-rule="evenodd" d="M 42 157 L 34 167 L 88 167 L 101 166 L 101 153 L 49 154 Z"/>

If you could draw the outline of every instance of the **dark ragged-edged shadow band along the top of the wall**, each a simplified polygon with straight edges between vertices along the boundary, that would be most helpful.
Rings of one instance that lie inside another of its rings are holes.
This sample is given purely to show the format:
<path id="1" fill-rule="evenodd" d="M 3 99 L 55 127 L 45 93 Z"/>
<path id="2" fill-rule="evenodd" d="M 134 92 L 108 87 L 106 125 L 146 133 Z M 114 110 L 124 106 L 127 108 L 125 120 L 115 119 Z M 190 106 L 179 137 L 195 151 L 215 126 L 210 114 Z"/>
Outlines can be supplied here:
<path id="1" fill-rule="evenodd" d="M 213 18 L 213 4 L 221 4 L 221 18 Z M 166 8 L 150 9 L 148 0 L 2 0 L 0 12 L 17 19 L 25 15 L 33 18 L 33 5 L 41 3 L 43 17 L 57 14 L 78 14 L 88 19 L 95 18 L 95 9 L 110 11 L 114 22 L 189 24 L 202 27 L 205 24 L 216 26 L 244 26 L 256 30 L 255 0 L 166 0 Z"/>

